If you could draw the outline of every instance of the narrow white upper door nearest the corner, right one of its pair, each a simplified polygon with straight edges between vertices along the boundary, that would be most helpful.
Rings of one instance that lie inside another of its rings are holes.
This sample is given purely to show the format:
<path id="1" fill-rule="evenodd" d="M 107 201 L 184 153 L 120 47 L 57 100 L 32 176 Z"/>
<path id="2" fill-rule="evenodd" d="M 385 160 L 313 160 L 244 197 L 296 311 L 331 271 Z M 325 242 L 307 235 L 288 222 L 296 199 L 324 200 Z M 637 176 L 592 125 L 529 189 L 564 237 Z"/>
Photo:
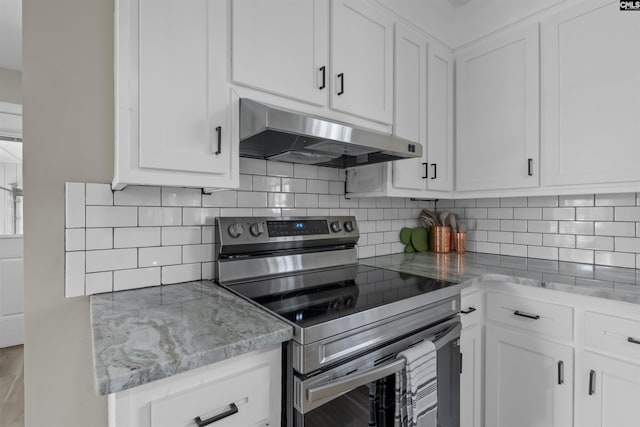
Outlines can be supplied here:
<path id="1" fill-rule="evenodd" d="M 429 44 L 427 98 L 428 188 L 453 189 L 453 55 L 435 43 Z"/>

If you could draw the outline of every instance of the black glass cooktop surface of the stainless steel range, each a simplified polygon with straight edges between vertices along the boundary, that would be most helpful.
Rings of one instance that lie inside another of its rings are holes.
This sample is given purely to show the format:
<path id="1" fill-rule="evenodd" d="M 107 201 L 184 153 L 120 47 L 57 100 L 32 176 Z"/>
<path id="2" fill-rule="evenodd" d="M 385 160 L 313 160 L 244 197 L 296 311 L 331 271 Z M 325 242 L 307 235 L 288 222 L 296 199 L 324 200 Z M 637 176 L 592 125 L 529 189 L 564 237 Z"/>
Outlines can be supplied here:
<path id="1" fill-rule="evenodd" d="M 228 287 L 304 328 L 453 285 L 353 265 Z"/>

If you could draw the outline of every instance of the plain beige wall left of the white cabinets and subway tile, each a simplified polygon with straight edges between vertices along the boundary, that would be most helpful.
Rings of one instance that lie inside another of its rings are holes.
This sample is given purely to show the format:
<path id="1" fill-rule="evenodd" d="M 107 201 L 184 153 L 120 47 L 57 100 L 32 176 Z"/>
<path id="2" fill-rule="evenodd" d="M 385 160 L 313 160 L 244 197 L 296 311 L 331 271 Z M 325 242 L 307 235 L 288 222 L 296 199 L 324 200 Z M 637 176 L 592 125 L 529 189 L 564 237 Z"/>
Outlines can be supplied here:
<path id="1" fill-rule="evenodd" d="M 113 175 L 113 0 L 24 0 L 25 420 L 101 427 L 89 301 L 64 298 L 64 183 Z"/>

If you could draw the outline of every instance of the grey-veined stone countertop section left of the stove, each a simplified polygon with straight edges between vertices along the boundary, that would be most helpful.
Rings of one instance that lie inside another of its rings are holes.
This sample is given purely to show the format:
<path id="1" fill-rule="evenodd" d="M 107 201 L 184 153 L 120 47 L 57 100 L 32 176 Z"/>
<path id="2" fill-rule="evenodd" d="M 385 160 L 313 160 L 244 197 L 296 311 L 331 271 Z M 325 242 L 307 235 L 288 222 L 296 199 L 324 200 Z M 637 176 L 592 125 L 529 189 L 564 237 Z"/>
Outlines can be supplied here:
<path id="1" fill-rule="evenodd" d="M 290 325 L 210 281 L 90 298 L 96 392 L 115 393 L 291 339 Z"/>

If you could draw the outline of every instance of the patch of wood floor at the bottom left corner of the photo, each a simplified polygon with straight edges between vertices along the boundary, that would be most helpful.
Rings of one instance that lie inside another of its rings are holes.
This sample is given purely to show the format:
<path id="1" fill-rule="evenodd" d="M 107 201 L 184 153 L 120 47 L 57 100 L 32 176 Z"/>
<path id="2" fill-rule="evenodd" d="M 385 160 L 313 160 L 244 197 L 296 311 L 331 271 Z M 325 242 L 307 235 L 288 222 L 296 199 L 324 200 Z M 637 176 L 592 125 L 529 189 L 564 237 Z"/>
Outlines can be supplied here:
<path id="1" fill-rule="evenodd" d="M 0 348 L 0 427 L 24 427 L 24 348 Z"/>

